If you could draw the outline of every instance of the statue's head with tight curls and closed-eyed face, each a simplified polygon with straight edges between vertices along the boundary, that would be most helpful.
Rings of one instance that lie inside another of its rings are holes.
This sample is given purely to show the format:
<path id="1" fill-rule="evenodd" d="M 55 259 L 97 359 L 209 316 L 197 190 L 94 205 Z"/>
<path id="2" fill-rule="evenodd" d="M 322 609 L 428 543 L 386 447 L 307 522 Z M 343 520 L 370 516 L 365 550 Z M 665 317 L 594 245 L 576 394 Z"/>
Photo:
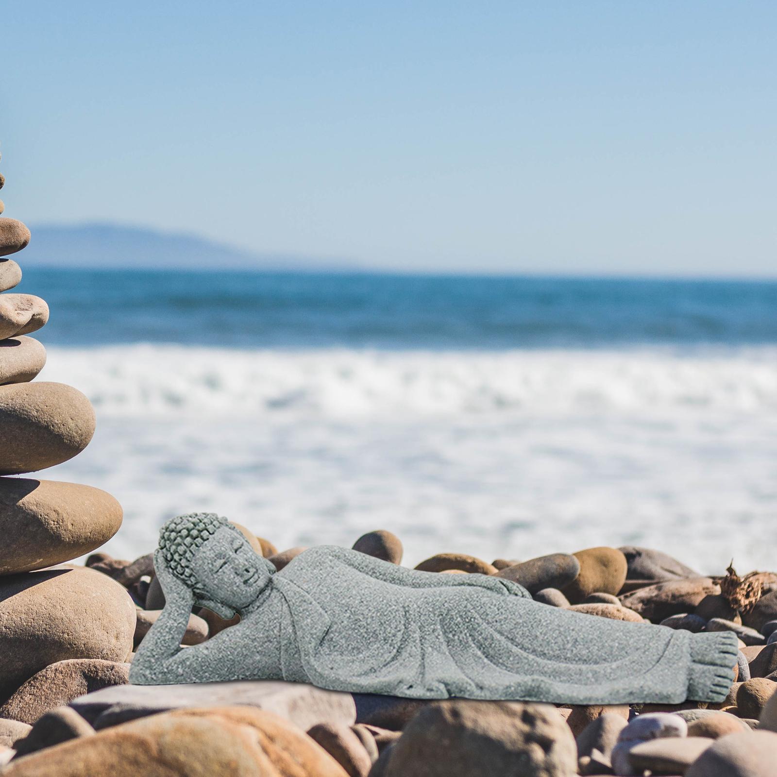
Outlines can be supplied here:
<path id="1" fill-rule="evenodd" d="M 197 604 L 221 618 L 249 608 L 275 571 L 238 528 L 215 513 L 171 518 L 159 532 L 159 551 Z"/>

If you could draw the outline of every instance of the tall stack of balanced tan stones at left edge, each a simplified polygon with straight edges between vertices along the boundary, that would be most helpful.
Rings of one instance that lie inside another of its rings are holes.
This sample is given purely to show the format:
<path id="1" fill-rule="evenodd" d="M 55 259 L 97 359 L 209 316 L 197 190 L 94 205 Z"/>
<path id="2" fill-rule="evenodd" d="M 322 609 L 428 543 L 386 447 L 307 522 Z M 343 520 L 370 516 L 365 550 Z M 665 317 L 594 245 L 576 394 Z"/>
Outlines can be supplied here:
<path id="1" fill-rule="evenodd" d="M 136 621 L 123 586 L 67 564 L 117 532 L 117 500 L 90 486 L 17 477 L 77 455 L 95 430 L 81 392 L 35 380 L 46 350 L 29 335 L 49 310 L 12 291 L 22 271 L 8 258 L 29 242 L 21 221 L 0 218 L 0 763 L 40 710 L 127 681 Z"/>

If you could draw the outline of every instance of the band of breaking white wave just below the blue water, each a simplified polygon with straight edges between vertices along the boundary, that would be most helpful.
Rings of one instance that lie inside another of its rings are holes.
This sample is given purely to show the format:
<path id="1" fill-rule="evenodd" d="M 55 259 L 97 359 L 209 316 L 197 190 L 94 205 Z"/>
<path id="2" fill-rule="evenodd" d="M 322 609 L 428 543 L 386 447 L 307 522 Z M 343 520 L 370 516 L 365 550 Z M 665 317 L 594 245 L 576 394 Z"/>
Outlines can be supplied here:
<path id="1" fill-rule="evenodd" d="M 777 409 L 777 349 L 382 352 L 51 349 L 43 379 L 101 416 L 392 416 Z"/>

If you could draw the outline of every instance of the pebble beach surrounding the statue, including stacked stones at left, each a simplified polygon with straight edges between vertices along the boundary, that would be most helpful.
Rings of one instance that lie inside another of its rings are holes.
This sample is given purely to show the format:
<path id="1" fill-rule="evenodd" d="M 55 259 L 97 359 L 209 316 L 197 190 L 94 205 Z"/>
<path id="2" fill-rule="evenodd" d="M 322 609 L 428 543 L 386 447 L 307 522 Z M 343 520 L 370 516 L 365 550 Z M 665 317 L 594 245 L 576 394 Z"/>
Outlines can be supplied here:
<path id="1" fill-rule="evenodd" d="M 0 218 L 3 777 L 774 774 L 777 573 L 722 562 L 730 550 L 723 532 L 707 538 L 718 549 L 703 566 L 697 552 L 685 558 L 659 545 L 589 542 L 566 552 L 561 545 L 568 538 L 554 536 L 563 533 L 558 526 L 542 542 L 535 536 L 524 545 L 535 553 L 514 553 L 517 543 L 504 542 L 497 558 L 483 556 L 485 545 L 474 541 L 469 552 L 454 552 L 437 536 L 416 543 L 401 521 L 350 536 L 340 524 L 337 536 L 386 563 L 410 558 L 409 566 L 428 573 L 507 578 L 543 606 L 590 618 L 733 632 L 740 650 L 720 704 L 420 702 L 277 681 L 128 685 L 135 651 L 165 605 L 152 563 L 155 535 L 138 531 L 135 522 L 130 532 L 120 500 L 107 490 L 38 477 L 73 466 L 92 440 L 96 413 L 78 388 L 35 379 L 46 350 L 30 333 L 46 325 L 49 308 L 35 294 L 13 291 L 22 269 L 7 258 L 29 241 L 20 221 Z M 72 375 L 78 382 L 78 371 Z M 102 466 L 115 470 L 121 463 Z M 174 473 L 167 483 L 174 500 Z M 331 541 L 311 527 L 309 542 L 291 546 L 280 525 L 267 536 L 235 525 L 277 570 L 307 547 Z M 121 557 L 107 543 L 124 532 L 131 534 L 124 547 L 138 552 Z M 198 608 L 183 645 L 233 625 L 235 619 Z"/>

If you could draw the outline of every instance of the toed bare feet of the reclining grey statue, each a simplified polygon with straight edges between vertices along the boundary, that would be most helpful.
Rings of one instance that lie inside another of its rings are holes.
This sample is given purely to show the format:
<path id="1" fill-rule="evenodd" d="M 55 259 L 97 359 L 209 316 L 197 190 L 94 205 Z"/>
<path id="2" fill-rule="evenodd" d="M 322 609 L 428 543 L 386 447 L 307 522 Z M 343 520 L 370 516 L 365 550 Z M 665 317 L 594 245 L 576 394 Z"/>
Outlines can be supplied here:
<path id="1" fill-rule="evenodd" d="M 737 636 L 733 632 L 693 634 L 688 700 L 720 703 L 726 699 L 738 652 Z"/>

